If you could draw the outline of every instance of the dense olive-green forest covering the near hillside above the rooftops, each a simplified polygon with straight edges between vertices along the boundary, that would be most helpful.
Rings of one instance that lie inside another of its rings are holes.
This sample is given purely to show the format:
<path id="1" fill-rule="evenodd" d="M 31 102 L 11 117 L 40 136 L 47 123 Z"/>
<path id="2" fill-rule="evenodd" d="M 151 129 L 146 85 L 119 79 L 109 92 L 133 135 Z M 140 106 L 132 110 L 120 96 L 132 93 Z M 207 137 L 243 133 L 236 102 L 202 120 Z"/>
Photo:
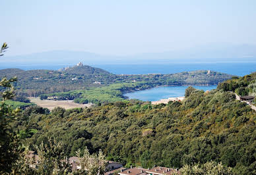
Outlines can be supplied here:
<path id="1" fill-rule="evenodd" d="M 236 88 L 225 88 L 234 82 Z M 90 153 L 102 149 L 107 159 L 126 166 L 180 168 L 212 160 L 233 167 L 235 174 L 256 174 L 256 112 L 232 92 L 251 84 L 255 73 L 210 92 L 188 88 L 184 101 L 168 105 L 117 101 L 51 112 L 28 107 L 12 126 L 32 150 L 53 136 L 64 143 L 67 156 L 87 147 Z"/>

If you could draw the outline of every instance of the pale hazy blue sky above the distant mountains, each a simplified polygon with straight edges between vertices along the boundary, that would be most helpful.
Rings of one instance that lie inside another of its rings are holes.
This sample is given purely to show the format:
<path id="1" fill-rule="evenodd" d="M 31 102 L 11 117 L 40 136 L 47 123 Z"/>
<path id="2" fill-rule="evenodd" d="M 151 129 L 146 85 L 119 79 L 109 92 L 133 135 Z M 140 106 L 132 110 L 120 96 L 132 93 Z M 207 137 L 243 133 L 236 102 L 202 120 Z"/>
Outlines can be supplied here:
<path id="1" fill-rule="evenodd" d="M 255 0 L 1 1 L 7 55 L 79 50 L 173 51 L 208 43 L 256 44 Z"/>

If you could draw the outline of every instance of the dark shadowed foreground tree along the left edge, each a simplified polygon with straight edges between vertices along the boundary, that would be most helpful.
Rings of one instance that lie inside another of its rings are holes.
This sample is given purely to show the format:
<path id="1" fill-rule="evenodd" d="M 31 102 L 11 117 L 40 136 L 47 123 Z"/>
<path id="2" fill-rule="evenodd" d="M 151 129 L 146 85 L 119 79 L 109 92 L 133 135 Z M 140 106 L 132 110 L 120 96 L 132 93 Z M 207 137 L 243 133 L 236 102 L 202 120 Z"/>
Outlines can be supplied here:
<path id="1" fill-rule="evenodd" d="M 0 56 L 7 49 L 7 43 L 3 43 L 1 47 Z M 20 143 L 20 139 L 16 132 L 11 127 L 11 122 L 19 114 L 19 109 L 11 109 L 5 101 L 14 97 L 14 90 L 12 83 L 16 82 L 16 78 L 3 78 L 0 81 L 0 87 L 3 89 L 0 93 L 2 101 L 0 102 L 0 174 L 15 174 L 20 172 L 18 164 L 22 161 L 24 156 L 24 148 Z"/>

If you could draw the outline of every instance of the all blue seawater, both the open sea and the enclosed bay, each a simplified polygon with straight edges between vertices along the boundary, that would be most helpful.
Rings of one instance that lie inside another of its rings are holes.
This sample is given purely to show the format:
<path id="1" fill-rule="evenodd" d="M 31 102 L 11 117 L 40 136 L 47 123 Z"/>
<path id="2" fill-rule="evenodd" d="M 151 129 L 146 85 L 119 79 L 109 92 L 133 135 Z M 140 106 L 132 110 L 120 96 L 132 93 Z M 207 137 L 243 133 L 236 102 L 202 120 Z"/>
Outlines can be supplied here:
<path id="1" fill-rule="evenodd" d="M 234 76 L 244 76 L 256 72 L 256 61 L 252 63 L 156 63 L 156 64 L 89 64 L 96 68 L 102 68 L 113 74 L 174 74 L 177 72 L 186 72 L 194 70 L 213 70 L 232 74 Z M 0 64 L 0 69 L 3 68 L 21 68 L 23 70 L 32 69 L 48 69 L 58 70 L 70 65 L 44 65 L 44 64 L 19 64 L 9 65 Z M 176 87 L 159 87 L 146 89 L 143 91 L 135 91 L 126 93 L 125 96 L 129 99 L 140 99 L 143 101 L 157 101 L 168 97 L 181 97 L 185 94 L 187 86 Z M 195 86 L 197 89 L 210 90 L 216 86 Z"/>

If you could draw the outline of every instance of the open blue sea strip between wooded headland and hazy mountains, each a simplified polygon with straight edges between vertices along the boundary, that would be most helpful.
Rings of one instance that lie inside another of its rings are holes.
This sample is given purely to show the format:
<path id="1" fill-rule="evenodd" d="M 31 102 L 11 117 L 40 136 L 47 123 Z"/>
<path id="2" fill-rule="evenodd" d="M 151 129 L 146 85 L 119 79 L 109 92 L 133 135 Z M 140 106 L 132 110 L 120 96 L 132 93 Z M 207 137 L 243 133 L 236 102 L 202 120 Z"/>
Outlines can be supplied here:
<path id="1" fill-rule="evenodd" d="M 84 63 L 86 64 L 86 63 Z M 49 69 L 58 70 L 65 64 L 0 64 L 3 68 Z M 174 74 L 193 70 L 214 70 L 237 76 L 244 76 L 256 71 L 256 61 L 251 63 L 159 63 L 159 64 L 91 64 L 113 74 Z"/>

